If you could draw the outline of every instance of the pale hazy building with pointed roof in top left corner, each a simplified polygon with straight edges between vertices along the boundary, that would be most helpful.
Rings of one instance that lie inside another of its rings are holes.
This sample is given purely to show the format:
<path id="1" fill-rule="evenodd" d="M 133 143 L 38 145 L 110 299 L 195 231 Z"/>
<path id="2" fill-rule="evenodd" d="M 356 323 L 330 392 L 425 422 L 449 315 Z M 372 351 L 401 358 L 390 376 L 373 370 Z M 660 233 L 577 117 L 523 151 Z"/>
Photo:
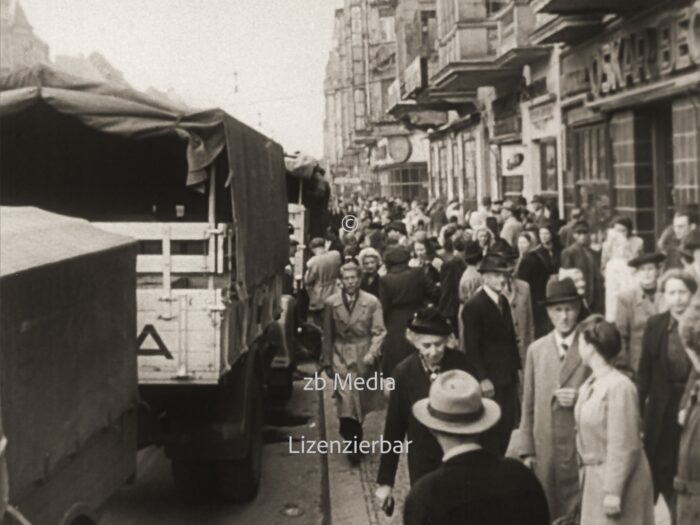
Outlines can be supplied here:
<path id="1" fill-rule="evenodd" d="M 49 46 L 34 34 L 18 0 L 0 0 L 0 73 L 49 62 Z"/>

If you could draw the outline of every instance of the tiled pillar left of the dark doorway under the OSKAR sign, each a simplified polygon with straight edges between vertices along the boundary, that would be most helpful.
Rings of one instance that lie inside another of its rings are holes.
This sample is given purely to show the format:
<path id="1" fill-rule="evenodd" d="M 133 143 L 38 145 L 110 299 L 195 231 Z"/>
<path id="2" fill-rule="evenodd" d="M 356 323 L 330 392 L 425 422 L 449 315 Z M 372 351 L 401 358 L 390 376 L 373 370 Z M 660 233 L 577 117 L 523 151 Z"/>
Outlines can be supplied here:
<path id="1" fill-rule="evenodd" d="M 647 248 L 654 242 L 654 169 L 652 122 L 630 111 L 610 119 L 615 208 L 632 218 Z"/>

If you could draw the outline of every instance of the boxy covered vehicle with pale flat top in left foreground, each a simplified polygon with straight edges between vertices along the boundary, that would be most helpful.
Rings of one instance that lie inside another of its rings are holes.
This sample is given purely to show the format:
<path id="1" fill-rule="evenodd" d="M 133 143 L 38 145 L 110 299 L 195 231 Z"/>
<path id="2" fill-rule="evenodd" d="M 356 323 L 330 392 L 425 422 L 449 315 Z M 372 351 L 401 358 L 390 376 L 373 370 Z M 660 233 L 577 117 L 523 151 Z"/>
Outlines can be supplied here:
<path id="1" fill-rule="evenodd" d="M 136 250 L 84 220 L 0 207 L 0 523 L 96 523 L 134 475 Z"/>

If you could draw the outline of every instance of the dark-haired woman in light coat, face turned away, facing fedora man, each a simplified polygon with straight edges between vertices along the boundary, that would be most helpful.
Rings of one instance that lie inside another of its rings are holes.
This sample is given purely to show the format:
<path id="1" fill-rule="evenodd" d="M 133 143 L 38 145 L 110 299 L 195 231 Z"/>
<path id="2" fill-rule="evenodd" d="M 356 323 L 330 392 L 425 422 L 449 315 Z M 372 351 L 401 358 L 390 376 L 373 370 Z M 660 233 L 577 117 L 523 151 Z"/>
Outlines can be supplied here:
<path id="1" fill-rule="evenodd" d="M 651 470 L 642 446 L 637 390 L 612 362 L 620 334 L 601 315 L 579 327 L 591 371 L 575 408 L 581 459 L 581 525 L 654 525 Z"/>

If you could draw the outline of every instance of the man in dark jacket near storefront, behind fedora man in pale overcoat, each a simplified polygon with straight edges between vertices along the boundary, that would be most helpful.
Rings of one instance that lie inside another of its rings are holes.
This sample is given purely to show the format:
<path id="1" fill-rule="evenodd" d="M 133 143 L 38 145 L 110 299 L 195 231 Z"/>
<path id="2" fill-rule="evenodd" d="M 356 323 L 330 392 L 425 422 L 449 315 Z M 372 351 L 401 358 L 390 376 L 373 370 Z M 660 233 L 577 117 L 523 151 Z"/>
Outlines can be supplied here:
<path id="1" fill-rule="evenodd" d="M 578 268 L 586 281 L 586 304 L 591 312 L 605 313 L 605 288 L 600 258 L 590 248 L 590 226 L 585 221 L 573 227 L 574 244 L 561 252 L 562 268 Z"/>

